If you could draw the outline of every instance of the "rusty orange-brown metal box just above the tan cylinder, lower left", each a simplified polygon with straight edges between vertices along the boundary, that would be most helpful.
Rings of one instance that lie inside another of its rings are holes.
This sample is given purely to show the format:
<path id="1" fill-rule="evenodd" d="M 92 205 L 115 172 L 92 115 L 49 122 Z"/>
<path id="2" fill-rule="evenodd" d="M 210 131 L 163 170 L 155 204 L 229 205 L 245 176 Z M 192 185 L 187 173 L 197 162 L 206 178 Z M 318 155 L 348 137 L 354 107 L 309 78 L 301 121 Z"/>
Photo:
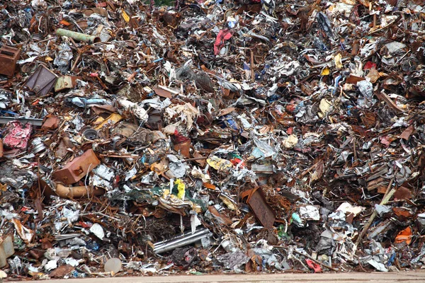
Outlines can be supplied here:
<path id="1" fill-rule="evenodd" d="M 92 171 L 100 163 L 101 162 L 96 157 L 96 154 L 94 154 L 93 149 L 89 149 L 84 152 L 83 155 L 67 163 L 64 168 L 55 171 L 55 173 L 53 173 L 53 178 L 65 185 L 72 185 L 81 180 L 81 178 Z"/>

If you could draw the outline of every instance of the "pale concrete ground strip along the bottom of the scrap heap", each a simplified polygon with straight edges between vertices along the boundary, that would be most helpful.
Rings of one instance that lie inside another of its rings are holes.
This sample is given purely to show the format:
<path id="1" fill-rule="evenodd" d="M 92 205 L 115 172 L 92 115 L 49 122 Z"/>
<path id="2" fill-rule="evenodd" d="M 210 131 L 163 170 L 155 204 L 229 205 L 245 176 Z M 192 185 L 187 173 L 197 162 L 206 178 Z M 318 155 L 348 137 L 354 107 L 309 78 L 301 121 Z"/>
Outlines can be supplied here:
<path id="1" fill-rule="evenodd" d="M 32 283 L 45 283 L 32 281 Z M 272 274 L 272 275 L 184 275 L 184 276 L 153 276 L 153 277 L 113 277 L 89 279 L 50 279 L 49 283 L 357 283 L 357 282 L 425 282 L 425 271 L 398 273 L 319 273 L 319 274 Z"/>

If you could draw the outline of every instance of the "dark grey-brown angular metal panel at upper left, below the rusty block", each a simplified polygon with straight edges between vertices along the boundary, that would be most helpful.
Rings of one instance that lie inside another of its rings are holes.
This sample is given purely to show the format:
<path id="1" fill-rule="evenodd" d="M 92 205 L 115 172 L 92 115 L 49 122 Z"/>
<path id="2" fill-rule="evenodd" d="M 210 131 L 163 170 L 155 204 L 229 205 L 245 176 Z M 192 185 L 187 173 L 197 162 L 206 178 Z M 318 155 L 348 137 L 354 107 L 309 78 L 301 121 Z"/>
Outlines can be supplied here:
<path id="1" fill-rule="evenodd" d="M 40 65 L 34 74 L 30 76 L 28 81 L 26 81 L 25 86 L 34 91 L 36 95 L 45 96 L 47 93 L 50 93 L 53 86 L 55 86 L 57 76 L 55 73 Z"/>

